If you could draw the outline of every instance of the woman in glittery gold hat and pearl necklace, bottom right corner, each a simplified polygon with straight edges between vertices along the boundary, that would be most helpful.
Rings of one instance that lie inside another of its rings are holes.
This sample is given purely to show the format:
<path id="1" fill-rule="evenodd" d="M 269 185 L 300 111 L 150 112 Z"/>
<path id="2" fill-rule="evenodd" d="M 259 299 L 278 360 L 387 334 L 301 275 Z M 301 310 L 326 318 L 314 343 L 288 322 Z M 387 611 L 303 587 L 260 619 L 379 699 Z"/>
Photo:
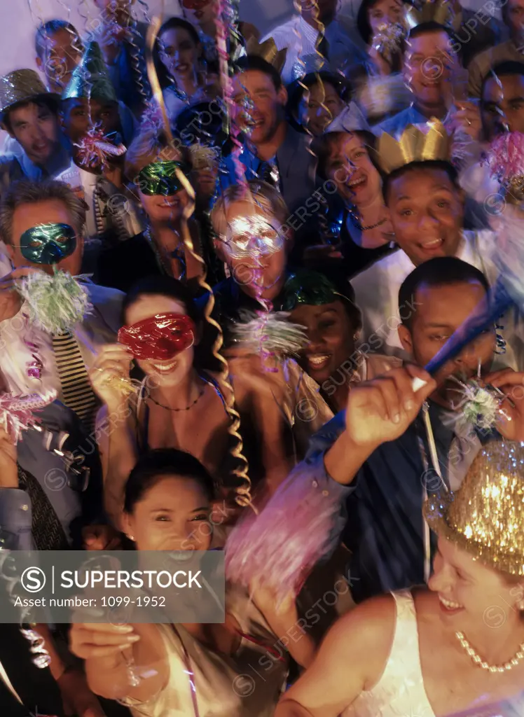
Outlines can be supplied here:
<path id="1" fill-rule="evenodd" d="M 429 589 L 340 618 L 276 717 L 524 713 L 523 460 L 522 445 L 493 443 L 457 493 L 426 501 Z"/>

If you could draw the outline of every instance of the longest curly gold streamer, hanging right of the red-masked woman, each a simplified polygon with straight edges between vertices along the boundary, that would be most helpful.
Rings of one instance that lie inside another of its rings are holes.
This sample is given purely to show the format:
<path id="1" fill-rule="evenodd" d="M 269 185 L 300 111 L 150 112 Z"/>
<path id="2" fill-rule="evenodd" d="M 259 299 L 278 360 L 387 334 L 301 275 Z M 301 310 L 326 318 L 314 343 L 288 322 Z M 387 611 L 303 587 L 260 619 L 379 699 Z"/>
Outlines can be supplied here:
<path id="1" fill-rule="evenodd" d="M 164 129 L 166 131 L 169 144 L 174 147 L 173 134 L 169 126 L 166 107 L 164 105 L 164 96 L 162 95 L 162 89 L 160 87 L 159 79 L 156 75 L 156 70 L 153 62 L 153 48 L 161 26 L 161 19 L 159 17 L 155 17 L 148 29 L 146 37 L 146 67 L 147 75 L 149 77 L 149 83 L 151 85 L 151 90 L 153 90 L 154 98 L 156 99 L 156 102 L 159 103 L 159 107 L 162 112 L 162 119 L 164 120 Z M 222 384 L 224 389 L 223 394 L 225 398 L 225 407 L 226 411 L 228 412 L 228 416 L 230 417 L 228 433 L 235 440 L 235 446 L 231 448 L 230 453 L 236 460 L 238 460 L 238 463 L 240 464 L 238 467 L 235 467 L 233 469 L 233 475 L 235 475 L 235 478 L 238 478 L 238 480 L 240 481 L 240 485 L 237 485 L 235 487 L 235 491 L 237 494 L 235 496 L 235 502 L 242 508 L 250 506 L 253 511 L 257 513 L 258 511 L 256 511 L 256 508 L 251 500 L 251 480 L 248 476 L 248 461 L 243 455 L 244 446 L 242 437 L 240 436 L 240 414 L 238 414 L 238 411 L 235 409 L 233 386 L 231 386 L 230 381 L 228 379 L 228 362 L 220 354 L 220 348 L 222 348 L 224 343 L 222 328 L 220 328 L 220 324 L 218 324 L 217 321 L 215 321 L 215 319 L 211 317 L 212 310 L 215 307 L 215 296 L 212 293 L 212 288 L 206 281 L 207 267 L 205 265 L 205 261 L 202 259 L 202 257 L 200 257 L 200 255 L 197 254 L 197 252 L 195 252 L 195 247 L 193 246 L 193 241 L 191 238 L 188 224 L 190 217 L 195 211 L 195 190 L 191 186 L 190 181 L 180 169 L 176 170 L 176 175 L 177 179 L 187 192 L 187 196 L 189 196 L 190 199 L 186 208 L 184 209 L 184 221 L 182 222 L 182 240 L 184 242 L 184 246 L 187 248 L 187 251 L 190 252 L 191 257 L 197 260 L 197 262 L 200 262 L 200 265 L 202 265 L 202 273 L 198 277 L 198 284 L 203 291 L 207 292 L 207 295 L 209 297 L 204 310 L 204 316 L 206 322 L 210 326 L 215 328 L 217 331 L 217 338 L 215 340 L 214 346 L 212 347 L 212 354 L 215 359 L 217 359 L 217 361 L 219 361 L 219 363 L 222 365 L 223 369 L 220 383 Z"/>

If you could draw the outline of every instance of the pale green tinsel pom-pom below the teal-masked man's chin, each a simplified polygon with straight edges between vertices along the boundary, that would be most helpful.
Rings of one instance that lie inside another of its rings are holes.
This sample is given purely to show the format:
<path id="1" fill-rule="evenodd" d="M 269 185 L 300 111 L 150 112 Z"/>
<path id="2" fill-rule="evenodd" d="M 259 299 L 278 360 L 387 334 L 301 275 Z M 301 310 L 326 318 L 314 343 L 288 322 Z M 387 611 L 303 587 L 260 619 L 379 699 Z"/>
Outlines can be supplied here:
<path id="1" fill-rule="evenodd" d="M 29 307 L 30 322 L 51 335 L 72 331 L 92 310 L 87 290 L 61 270 L 54 276 L 32 272 L 17 282 L 17 290 Z"/>

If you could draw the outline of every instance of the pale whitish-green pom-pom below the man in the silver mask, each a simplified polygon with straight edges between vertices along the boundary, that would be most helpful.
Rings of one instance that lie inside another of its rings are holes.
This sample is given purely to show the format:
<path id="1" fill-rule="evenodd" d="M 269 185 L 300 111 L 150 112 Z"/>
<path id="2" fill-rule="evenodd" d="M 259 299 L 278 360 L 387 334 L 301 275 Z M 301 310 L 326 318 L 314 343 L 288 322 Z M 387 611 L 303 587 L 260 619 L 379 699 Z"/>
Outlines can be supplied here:
<path id="1" fill-rule="evenodd" d="M 232 329 L 233 339 L 252 353 L 273 353 L 276 356 L 297 356 L 307 346 L 307 333 L 303 326 L 291 323 L 289 313 L 240 313 L 241 323 Z"/>

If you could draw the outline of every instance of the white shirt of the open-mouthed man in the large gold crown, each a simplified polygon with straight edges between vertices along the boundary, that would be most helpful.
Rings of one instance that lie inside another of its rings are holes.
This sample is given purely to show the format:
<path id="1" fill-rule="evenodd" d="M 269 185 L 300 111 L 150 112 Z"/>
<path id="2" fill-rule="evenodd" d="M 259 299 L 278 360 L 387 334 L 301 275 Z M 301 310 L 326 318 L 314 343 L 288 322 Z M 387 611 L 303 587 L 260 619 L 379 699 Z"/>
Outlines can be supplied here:
<path id="1" fill-rule="evenodd" d="M 492 284 L 497 272 L 489 257 L 495 244 L 495 234 L 490 231 L 463 232 L 463 240 L 457 258 L 477 267 Z M 413 300 L 398 307 L 398 291 L 415 265 L 406 252 L 398 250 L 384 257 L 351 280 L 355 289 L 355 303 L 362 311 L 362 342 L 364 353 L 385 353 L 408 359 L 398 338 L 401 317 L 407 318 L 416 310 Z M 506 353 L 497 358 L 496 366 L 524 368 L 524 341 L 522 317 L 517 310 L 509 311 L 500 323 L 505 327 L 502 336 L 507 342 Z"/>

